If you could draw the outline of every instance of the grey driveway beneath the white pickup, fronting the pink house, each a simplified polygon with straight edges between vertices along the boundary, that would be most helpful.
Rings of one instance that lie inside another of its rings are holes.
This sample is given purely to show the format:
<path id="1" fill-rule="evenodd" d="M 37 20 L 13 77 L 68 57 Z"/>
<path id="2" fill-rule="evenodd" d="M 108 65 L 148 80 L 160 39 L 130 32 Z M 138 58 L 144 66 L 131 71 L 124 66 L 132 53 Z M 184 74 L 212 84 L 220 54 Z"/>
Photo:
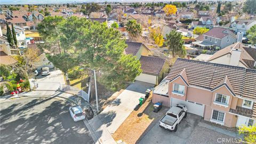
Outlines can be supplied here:
<path id="1" fill-rule="evenodd" d="M 217 127 L 220 132 L 213 129 L 208 129 L 213 127 L 212 125 L 205 124 L 201 116 L 188 113 L 187 118 L 182 119 L 181 123 L 178 125 L 177 132 L 169 132 L 167 130 L 161 129 L 159 123 L 146 133 L 138 143 L 223 143 L 219 142 L 223 138 L 233 139 L 230 137 L 228 131 L 221 132 L 220 128 Z M 223 134 L 226 133 L 226 134 Z M 226 143 L 226 142 L 224 142 Z"/>

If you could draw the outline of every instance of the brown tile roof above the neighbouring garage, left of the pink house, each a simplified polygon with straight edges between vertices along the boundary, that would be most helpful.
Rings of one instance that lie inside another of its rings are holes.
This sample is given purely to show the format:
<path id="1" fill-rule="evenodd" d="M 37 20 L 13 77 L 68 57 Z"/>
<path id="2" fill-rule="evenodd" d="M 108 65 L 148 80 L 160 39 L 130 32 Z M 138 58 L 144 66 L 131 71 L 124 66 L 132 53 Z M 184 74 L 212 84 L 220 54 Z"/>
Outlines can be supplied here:
<path id="1" fill-rule="evenodd" d="M 166 62 L 163 58 L 143 56 L 140 57 L 142 74 L 158 76 Z"/>

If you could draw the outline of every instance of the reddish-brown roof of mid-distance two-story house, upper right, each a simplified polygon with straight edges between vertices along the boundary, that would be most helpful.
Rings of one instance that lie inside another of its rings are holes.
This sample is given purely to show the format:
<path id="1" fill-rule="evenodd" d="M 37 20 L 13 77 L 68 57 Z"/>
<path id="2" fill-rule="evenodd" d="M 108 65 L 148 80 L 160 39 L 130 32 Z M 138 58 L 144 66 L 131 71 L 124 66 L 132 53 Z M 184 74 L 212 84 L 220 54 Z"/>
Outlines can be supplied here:
<path id="1" fill-rule="evenodd" d="M 221 27 L 214 27 L 214 28 L 210 29 L 209 31 L 207 31 L 206 33 L 204 33 L 203 35 L 211 36 L 211 37 L 216 37 L 216 38 L 220 38 L 221 39 L 221 38 L 229 35 L 228 33 L 223 33 L 223 31 L 225 31 L 225 30 L 228 30 L 228 29 L 221 28 Z"/>

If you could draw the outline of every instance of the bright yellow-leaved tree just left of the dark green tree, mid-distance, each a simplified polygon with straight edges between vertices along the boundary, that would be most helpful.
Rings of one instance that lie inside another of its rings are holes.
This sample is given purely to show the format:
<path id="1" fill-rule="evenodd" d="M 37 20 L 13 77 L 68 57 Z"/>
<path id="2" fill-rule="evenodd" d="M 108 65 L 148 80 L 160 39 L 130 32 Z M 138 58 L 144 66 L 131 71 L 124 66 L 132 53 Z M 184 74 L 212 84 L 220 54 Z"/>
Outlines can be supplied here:
<path id="1" fill-rule="evenodd" d="M 154 39 L 155 43 L 158 46 L 162 46 L 163 43 L 164 43 L 164 37 L 161 33 L 160 27 L 157 27 L 157 28 L 149 27 L 148 29 L 149 29 L 149 32 L 150 32 L 150 37 Z"/>

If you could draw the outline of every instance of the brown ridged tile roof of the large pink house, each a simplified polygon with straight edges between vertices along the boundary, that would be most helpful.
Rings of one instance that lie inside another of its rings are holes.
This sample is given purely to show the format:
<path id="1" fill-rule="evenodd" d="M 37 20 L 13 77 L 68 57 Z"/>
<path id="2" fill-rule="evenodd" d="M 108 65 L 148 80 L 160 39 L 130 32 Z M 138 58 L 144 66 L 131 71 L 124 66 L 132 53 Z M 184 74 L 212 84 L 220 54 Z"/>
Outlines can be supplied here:
<path id="1" fill-rule="evenodd" d="M 178 58 L 167 79 L 171 81 L 185 68 L 189 85 L 212 90 L 227 76 L 236 96 L 256 100 L 256 70 Z"/>

